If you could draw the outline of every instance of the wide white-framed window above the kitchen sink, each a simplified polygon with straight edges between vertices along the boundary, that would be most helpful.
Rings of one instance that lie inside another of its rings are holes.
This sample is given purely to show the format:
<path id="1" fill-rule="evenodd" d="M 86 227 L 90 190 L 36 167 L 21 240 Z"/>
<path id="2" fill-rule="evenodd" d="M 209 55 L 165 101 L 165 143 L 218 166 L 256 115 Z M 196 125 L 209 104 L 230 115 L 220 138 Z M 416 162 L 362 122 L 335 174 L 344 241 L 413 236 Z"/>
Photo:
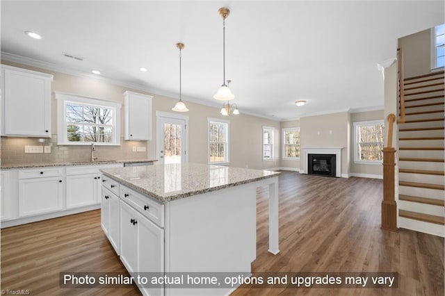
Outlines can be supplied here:
<path id="1" fill-rule="evenodd" d="M 56 93 L 58 145 L 120 145 L 120 103 Z"/>

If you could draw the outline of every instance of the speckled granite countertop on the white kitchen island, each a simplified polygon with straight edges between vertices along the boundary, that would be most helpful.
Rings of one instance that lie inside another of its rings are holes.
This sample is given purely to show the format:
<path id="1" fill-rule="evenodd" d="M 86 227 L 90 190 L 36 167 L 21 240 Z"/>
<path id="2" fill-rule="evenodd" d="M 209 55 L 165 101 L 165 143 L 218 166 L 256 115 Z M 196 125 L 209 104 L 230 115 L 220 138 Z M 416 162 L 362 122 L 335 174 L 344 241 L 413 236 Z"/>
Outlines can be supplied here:
<path id="1" fill-rule="evenodd" d="M 159 202 L 169 202 L 280 174 L 280 172 L 267 170 L 197 163 L 117 167 L 102 169 L 101 172 L 124 186 L 153 197 Z"/>

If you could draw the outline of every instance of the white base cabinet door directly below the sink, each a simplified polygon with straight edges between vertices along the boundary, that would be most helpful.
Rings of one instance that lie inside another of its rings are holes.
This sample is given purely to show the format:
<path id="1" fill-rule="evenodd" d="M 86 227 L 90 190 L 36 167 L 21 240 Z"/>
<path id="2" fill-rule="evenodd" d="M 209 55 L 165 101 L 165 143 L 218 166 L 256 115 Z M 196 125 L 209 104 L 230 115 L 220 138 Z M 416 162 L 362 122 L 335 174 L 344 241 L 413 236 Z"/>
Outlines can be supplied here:
<path id="1" fill-rule="evenodd" d="M 67 208 L 97 204 L 98 174 L 67 176 Z"/>

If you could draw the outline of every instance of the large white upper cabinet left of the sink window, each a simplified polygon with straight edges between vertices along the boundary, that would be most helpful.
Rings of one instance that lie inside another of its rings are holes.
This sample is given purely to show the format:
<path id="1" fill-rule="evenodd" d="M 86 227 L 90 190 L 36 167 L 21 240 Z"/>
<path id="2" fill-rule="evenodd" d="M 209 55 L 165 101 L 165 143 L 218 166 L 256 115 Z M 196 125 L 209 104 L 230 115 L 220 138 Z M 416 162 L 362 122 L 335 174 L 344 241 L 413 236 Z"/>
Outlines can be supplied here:
<path id="1" fill-rule="evenodd" d="M 1 65 L 1 135 L 51 137 L 50 74 Z"/>

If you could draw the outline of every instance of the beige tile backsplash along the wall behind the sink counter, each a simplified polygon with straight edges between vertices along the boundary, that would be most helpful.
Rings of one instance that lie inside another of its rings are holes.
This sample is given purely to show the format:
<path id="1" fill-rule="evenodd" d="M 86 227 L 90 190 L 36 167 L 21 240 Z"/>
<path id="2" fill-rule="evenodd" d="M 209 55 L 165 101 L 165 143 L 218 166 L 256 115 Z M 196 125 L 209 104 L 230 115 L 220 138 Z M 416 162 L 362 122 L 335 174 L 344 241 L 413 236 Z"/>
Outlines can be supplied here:
<path id="1" fill-rule="evenodd" d="M 51 146 L 49 154 L 25 154 L 25 145 Z M 147 158 L 147 151 L 133 152 L 133 147 L 146 147 L 145 141 L 120 140 L 120 146 L 95 145 L 95 156 L 98 161 L 127 161 Z M 38 138 L 7 138 L 1 137 L 1 164 L 23 163 L 67 163 L 72 161 L 90 161 L 91 149 L 89 145 L 57 145 L 57 135 L 45 138 L 39 142 Z"/>

